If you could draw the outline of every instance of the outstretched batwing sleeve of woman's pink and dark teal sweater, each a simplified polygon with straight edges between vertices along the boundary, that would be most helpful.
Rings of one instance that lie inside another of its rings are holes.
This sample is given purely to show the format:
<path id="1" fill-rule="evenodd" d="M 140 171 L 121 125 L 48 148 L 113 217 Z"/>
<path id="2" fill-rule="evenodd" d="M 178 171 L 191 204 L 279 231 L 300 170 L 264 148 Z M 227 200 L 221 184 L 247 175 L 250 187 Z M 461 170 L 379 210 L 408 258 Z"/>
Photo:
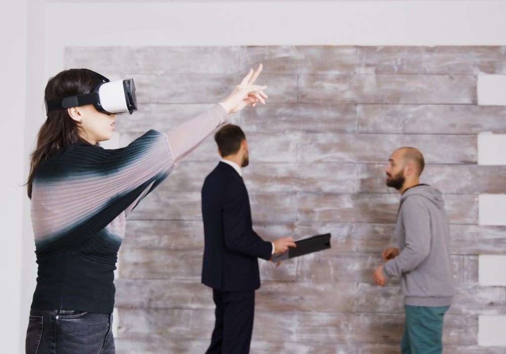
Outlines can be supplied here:
<path id="1" fill-rule="evenodd" d="M 226 121 L 217 105 L 167 134 L 150 130 L 121 149 L 73 144 L 53 155 L 37 168 L 32 186 L 37 251 L 75 245 L 130 212 Z"/>

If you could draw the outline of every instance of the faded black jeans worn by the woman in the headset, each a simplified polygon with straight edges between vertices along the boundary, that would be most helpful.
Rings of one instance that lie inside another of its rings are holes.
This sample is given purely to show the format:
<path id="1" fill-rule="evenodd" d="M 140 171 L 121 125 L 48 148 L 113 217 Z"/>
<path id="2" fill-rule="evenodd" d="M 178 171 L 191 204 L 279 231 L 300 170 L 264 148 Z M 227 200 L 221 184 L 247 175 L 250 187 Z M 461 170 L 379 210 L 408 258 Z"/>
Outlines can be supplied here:
<path id="1" fill-rule="evenodd" d="M 115 354 L 112 314 L 30 311 L 26 354 Z"/>

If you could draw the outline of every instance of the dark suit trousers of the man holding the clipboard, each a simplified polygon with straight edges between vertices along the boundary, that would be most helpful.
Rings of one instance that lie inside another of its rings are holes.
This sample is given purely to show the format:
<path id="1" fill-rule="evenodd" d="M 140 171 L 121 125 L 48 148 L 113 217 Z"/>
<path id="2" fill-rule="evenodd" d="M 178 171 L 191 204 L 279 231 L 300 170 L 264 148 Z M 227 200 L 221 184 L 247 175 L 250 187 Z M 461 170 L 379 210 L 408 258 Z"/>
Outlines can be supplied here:
<path id="1" fill-rule="evenodd" d="M 206 354 L 247 354 L 255 317 L 255 290 L 213 289 L 215 329 Z"/>

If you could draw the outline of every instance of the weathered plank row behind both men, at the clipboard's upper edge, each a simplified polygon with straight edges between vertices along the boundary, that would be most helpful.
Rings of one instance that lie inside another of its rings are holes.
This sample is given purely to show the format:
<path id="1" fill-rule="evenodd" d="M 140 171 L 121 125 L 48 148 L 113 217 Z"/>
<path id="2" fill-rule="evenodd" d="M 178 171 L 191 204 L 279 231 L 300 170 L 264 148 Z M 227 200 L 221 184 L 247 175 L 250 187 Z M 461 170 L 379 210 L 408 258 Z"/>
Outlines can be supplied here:
<path id="1" fill-rule="evenodd" d="M 202 250 L 201 221 L 130 220 L 124 245 L 136 248 Z M 333 222 L 265 223 L 256 222 L 255 231 L 265 240 L 294 236 L 296 240 L 330 232 L 328 252 L 380 253 L 384 247 L 397 246 L 394 224 Z M 450 225 L 453 254 L 502 254 L 506 249 L 506 227 Z"/>

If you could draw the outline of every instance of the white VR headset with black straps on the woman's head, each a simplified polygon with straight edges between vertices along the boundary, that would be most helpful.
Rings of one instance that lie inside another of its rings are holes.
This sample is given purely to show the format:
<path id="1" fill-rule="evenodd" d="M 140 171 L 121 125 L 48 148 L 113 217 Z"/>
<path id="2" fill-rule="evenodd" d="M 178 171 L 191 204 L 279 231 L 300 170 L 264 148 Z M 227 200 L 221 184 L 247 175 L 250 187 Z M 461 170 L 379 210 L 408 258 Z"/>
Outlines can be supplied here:
<path id="1" fill-rule="evenodd" d="M 46 103 L 46 114 L 59 109 L 79 107 L 93 104 L 95 108 L 104 113 L 126 113 L 132 114 L 137 110 L 137 98 L 135 96 L 134 79 L 110 81 L 107 77 L 93 72 L 102 79 L 102 82 L 95 87 L 92 93 L 75 96 L 68 96 L 56 100 L 44 99 Z"/>

